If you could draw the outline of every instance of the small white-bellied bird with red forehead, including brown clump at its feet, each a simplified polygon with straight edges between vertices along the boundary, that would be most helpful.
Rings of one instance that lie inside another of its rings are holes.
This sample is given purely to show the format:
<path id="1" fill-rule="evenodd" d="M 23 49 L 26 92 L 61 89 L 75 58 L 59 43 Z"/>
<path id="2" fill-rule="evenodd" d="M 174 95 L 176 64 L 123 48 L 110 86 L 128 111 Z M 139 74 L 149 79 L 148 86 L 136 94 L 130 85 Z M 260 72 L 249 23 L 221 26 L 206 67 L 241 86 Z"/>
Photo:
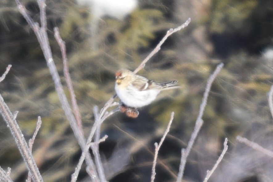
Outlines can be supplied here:
<path id="1" fill-rule="evenodd" d="M 161 90 L 181 87 L 177 80 L 157 83 L 136 75 L 129 69 L 120 69 L 115 76 L 115 91 L 122 102 L 120 111 L 126 112 L 131 118 L 137 118 L 139 115 L 137 108 L 151 104 Z"/>

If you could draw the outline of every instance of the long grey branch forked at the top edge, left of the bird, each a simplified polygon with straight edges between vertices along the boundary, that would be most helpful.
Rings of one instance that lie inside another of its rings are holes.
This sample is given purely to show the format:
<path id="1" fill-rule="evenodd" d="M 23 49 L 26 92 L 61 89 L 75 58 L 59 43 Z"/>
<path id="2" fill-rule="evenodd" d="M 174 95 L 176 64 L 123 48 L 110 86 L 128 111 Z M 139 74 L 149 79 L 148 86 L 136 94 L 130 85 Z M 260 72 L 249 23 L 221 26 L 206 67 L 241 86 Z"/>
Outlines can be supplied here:
<path id="1" fill-rule="evenodd" d="M 52 52 L 51 52 L 49 41 L 48 41 L 48 35 L 46 32 L 46 12 L 45 12 L 46 5 L 45 5 L 45 2 L 44 2 L 44 0 L 38 1 L 39 8 L 40 8 L 40 19 L 41 19 L 41 25 L 42 25 L 41 28 L 39 28 L 38 23 L 34 23 L 33 19 L 27 13 L 26 7 L 22 4 L 22 2 L 20 0 L 15 0 L 15 2 L 18 5 L 19 12 L 27 20 L 27 23 L 30 25 L 30 27 L 32 28 L 32 30 L 34 31 L 34 33 L 38 39 L 40 47 L 43 51 L 43 55 L 44 55 L 46 62 L 47 62 L 49 72 L 52 76 L 52 80 L 54 81 L 55 90 L 56 90 L 58 97 L 60 99 L 60 103 L 62 105 L 64 113 L 65 113 L 66 117 L 68 118 L 68 121 L 70 122 L 70 126 L 74 132 L 74 135 L 77 138 L 78 143 L 81 146 L 81 150 L 84 151 L 85 143 L 86 143 L 84 135 L 79 130 L 78 125 L 77 125 L 77 121 L 76 121 L 74 115 L 72 114 L 70 105 L 69 105 L 67 98 L 65 96 L 65 93 L 64 93 L 63 86 L 60 82 L 60 76 L 57 72 L 56 65 L 53 61 Z M 88 169 L 91 170 L 90 172 L 88 172 L 88 174 L 92 174 L 91 175 L 92 180 L 95 182 L 98 181 L 95 165 L 94 165 L 93 159 L 91 158 L 91 155 L 89 152 L 86 155 L 86 164 L 89 166 Z"/>

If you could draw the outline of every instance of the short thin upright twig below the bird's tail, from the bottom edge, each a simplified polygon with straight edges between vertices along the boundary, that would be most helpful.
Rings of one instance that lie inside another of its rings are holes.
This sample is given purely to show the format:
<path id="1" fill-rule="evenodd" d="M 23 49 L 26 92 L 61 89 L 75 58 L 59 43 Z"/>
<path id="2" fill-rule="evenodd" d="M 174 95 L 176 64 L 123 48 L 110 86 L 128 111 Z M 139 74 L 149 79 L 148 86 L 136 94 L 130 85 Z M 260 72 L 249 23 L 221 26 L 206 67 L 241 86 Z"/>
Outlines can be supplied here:
<path id="1" fill-rule="evenodd" d="M 171 127 L 172 120 L 173 120 L 173 115 L 174 115 L 174 112 L 172 112 L 172 114 L 171 114 L 169 124 L 168 124 L 167 129 L 166 129 L 165 133 L 163 134 L 163 137 L 161 138 L 159 144 L 155 143 L 155 157 L 154 157 L 153 167 L 152 167 L 151 182 L 154 182 L 154 180 L 155 180 L 155 165 L 156 165 L 156 159 L 157 159 L 158 151 L 159 151 L 159 148 L 161 147 L 163 141 L 165 140 L 168 132 L 170 131 L 170 127 Z"/>

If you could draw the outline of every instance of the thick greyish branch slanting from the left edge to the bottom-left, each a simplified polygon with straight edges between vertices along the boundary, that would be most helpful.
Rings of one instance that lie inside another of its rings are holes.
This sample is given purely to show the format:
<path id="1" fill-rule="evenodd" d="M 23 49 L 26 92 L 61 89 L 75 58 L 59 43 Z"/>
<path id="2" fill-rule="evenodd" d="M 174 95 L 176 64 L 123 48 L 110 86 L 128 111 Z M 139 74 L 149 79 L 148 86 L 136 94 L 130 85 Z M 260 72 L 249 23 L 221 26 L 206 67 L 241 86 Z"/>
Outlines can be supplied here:
<path id="1" fill-rule="evenodd" d="M 33 181 L 42 182 L 42 176 L 39 172 L 39 169 L 34 161 L 34 158 L 31 154 L 27 142 L 24 138 L 22 131 L 19 128 L 16 120 L 14 119 L 13 114 L 10 112 L 9 107 L 6 105 L 3 97 L 0 94 L 0 112 L 10 129 L 10 132 L 17 144 L 17 147 L 27 165 L 28 171 L 31 173 L 31 178 Z"/>

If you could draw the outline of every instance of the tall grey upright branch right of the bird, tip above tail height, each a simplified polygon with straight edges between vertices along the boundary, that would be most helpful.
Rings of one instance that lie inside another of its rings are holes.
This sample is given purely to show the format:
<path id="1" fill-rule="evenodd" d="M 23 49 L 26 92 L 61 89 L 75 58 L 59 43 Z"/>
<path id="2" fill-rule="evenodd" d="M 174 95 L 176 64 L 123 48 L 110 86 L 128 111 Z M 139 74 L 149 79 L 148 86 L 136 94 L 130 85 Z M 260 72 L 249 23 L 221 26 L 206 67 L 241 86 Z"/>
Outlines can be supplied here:
<path id="1" fill-rule="evenodd" d="M 176 182 L 181 182 L 182 181 L 188 155 L 189 155 L 189 153 L 191 151 L 191 148 L 193 146 L 193 143 L 194 143 L 194 141 L 195 141 L 195 139 L 196 139 L 196 137 L 197 137 L 197 135 L 198 135 L 198 133 L 199 133 L 199 131 L 201 129 L 201 126 L 203 125 L 202 116 L 204 114 L 205 106 L 207 104 L 207 100 L 208 100 L 211 85 L 212 85 L 214 79 L 216 78 L 217 74 L 223 68 L 223 66 L 224 66 L 223 63 L 218 64 L 217 68 L 214 70 L 213 74 L 209 77 L 209 80 L 208 80 L 207 85 L 206 85 L 205 93 L 204 93 L 204 96 L 203 96 L 203 99 L 202 99 L 202 103 L 200 105 L 199 114 L 198 114 L 198 117 L 196 119 L 195 127 L 194 127 L 194 130 L 192 132 L 191 138 L 190 138 L 190 140 L 188 142 L 188 147 L 186 149 L 181 150 L 181 160 L 180 160 L 179 172 L 178 172 L 178 175 L 177 175 Z"/>

